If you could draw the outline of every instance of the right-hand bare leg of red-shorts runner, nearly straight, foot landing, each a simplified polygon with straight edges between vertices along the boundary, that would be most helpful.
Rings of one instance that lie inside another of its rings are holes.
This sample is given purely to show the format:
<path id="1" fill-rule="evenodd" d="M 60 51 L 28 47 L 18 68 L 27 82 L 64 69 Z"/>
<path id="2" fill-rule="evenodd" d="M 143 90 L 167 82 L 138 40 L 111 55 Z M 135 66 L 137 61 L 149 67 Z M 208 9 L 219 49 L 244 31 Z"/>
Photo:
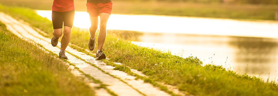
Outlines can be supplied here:
<path id="1" fill-rule="evenodd" d="M 106 39 L 106 24 L 110 14 L 100 13 L 100 33 L 98 34 L 98 50 L 103 47 L 104 41 Z"/>

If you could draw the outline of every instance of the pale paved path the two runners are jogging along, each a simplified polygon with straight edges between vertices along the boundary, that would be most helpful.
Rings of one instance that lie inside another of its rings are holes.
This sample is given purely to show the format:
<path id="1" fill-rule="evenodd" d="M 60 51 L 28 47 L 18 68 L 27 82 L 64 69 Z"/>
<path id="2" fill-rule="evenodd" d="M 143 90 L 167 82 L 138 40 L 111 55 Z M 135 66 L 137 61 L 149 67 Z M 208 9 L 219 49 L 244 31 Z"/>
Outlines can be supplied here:
<path id="1" fill-rule="evenodd" d="M 7 26 L 7 29 L 9 31 L 11 31 L 18 37 L 25 38 L 24 40 L 26 41 L 39 43 L 43 46 L 44 49 L 47 49 L 59 55 L 59 47 L 61 46 L 60 42 L 58 43 L 57 47 L 53 47 L 51 45 L 50 38 L 43 37 L 27 23 L 13 19 L 11 16 L 1 12 L 0 21 Z M 68 64 L 71 72 L 78 77 L 85 78 L 85 82 L 88 83 L 88 85 L 90 85 L 92 88 L 94 88 L 94 90 L 96 90 L 96 95 L 98 96 L 111 95 L 107 92 L 106 89 L 96 89 L 95 87 L 100 86 L 100 84 L 93 83 L 92 78 L 85 77 L 83 73 L 90 75 L 91 77 L 101 81 L 105 85 L 108 85 L 107 88 L 110 91 L 116 93 L 118 96 L 170 96 L 168 93 L 161 91 L 159 88 L 153 87 L 153 85 L 149 83 L 144 83 L 144 81 L 141 79 L 135 80 L 134 76 L 128 75 L 123 71 L 113 70 L 113 66 L 106 65 L 102 61 L 98 61 L 94 57 L 79 52 L 76 49 L 72 49 L 68 46 L 66 51 L 68 51 L 65 53 L 65 55 L 68 57 L 67 61 L 75 65 L 73 66 Z M 86 63 L 85 61 L 88 63 Z M 76 69 L 75 67 L 78 67 L 78 69 Z M 83 73 L 81 73 L 80 71 L 82 71 Z M 134 69 L 132 69 L 132 71 L 142 75 L 142 73 Z"/>

